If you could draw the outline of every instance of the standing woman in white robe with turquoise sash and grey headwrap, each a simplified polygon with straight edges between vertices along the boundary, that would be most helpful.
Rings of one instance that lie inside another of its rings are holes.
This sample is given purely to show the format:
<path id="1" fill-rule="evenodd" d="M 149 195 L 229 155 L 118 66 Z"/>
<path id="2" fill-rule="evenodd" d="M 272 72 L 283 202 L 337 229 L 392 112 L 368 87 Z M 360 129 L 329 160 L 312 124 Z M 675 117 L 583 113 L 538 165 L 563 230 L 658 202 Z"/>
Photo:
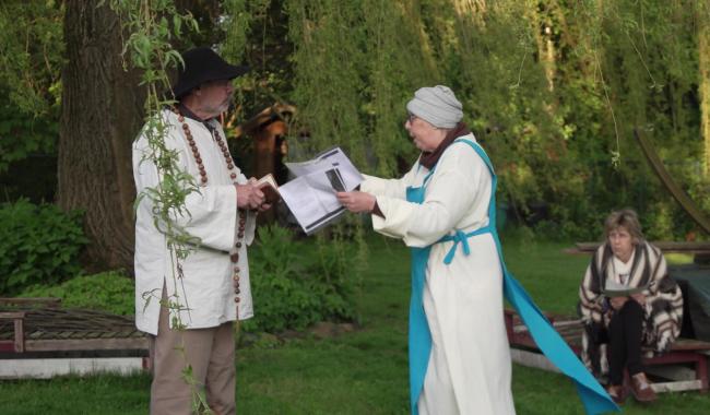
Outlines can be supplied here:
<path id="1" fill-rule="evenodd" d="M 541 349 L 577 382 L 587 412 L 617 408 L 507 271 L 495 227 L 496 176 L 461 122 L 453 92 L 419 88 L 406 109 L 419 159 L 401 179 L 365 176 L 360 191 L 338 199 L 412 248 L 412 413 L 514 414 L 504 286 Z"/>

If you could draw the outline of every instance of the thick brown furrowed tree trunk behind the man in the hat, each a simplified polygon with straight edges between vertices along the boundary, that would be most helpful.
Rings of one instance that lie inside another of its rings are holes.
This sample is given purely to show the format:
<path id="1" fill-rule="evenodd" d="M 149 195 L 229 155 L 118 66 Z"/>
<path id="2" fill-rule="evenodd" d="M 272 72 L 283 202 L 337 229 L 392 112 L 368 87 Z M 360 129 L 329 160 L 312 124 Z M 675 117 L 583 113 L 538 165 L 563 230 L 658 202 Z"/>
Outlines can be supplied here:
<path id="1" fill-rule="evenodd" d="M 66 3 L 58 204 L 86 212 L 91 269 L 132 270 L 130 150 L 142 124 L 145 93 L 135 71 L 123 71 L 118 16 L 97 3 Z"/>

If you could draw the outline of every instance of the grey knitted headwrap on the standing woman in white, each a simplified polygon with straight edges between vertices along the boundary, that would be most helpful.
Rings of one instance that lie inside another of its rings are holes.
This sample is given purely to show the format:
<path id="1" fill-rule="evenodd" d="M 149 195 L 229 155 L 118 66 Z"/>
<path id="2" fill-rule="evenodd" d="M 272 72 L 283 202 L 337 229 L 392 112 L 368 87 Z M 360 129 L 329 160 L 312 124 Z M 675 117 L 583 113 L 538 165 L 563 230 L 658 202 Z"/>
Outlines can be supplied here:
<path id="1" fill-rule="evenodd" d="M 414 93 L 406 110 L 434 127 L 451 129 L 463 118 L 463 107 L 448 86 L 426 86 Z"/>

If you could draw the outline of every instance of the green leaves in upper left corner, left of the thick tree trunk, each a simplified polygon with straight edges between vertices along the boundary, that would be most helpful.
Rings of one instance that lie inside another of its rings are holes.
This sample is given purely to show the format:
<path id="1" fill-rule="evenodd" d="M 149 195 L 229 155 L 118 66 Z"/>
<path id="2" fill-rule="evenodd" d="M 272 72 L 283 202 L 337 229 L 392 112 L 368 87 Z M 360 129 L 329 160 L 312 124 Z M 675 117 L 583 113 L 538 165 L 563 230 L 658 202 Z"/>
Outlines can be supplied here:
<path id="1" fill-rule="evenodd" d="M 63 2 L 0 4 L 0 174 L 31 154 L 55 154 Z"/>

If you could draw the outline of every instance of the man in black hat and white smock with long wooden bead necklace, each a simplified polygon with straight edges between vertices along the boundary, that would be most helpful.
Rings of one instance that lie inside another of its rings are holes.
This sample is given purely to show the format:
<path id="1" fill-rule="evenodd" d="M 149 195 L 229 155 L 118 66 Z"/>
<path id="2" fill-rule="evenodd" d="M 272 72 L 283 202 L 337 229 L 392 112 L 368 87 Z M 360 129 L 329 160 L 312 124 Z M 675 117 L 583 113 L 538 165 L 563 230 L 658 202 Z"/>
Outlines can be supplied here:
<path id="1" fill-rule="evenodd" d="M 190 414 L 196 392 L 204 392 L 212 412 L 234 414 L 232 327 L 253 315 L 247 246 L 253 239 L 257 211 L 270 206 L 235 165 L 216 119 L 232 100 L 230 81 L 248 69 L 225 62 L 210 48 L 191 49 L 182 59 L 185 67 L 173 87 L 177 105 L 159 117 L 166 127 L 165 145 L 199 186 L 174 221 L 200 238 L 200 245 L 178 263 L 155 225 L 153 201 L 141 200 L 135 222 L 135 325 L 152 335 L 151 414 Z M 163 182 L 150 158 L 147 132 L 144 129 L 133 144 L 139 194 Z M 186 380 L 187 368 L 191 379 Z"/>

